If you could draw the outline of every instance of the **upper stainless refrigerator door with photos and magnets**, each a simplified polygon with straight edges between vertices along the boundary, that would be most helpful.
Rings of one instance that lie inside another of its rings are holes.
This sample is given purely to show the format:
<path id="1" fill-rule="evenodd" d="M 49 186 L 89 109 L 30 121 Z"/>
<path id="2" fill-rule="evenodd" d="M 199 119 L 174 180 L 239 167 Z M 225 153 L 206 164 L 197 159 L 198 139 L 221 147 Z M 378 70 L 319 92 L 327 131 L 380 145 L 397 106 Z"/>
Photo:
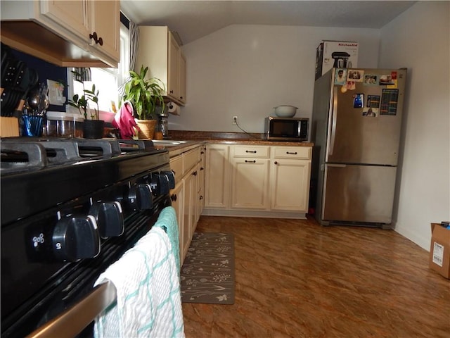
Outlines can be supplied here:
<path id="1" fill-rule="evenodd" d="M 383 73 L 393 71 L 366 70 L 366 73 L 369 72 L 380 78 Z M 395 72 L 398 73 L 395 89 L 355 82 L 354 89 L 342 92 L 343 86 L 334 86 L 333 104 L 328 115 L 330 128 L 326 162 L 397 165 L 406 70 Z M 392 96 L 390 93 L 393 93 Z M 372 100 L 368 103 L 369 98 Z M 397 111 L 389 115 L 381 114 L 382 109 L 375 106 L 377 101 L 383 105 L 383 99 L 392 105 L 397 104 Z M 395 100 L 397 103 L 394 103 Z M 373 108 L 368 107 L 369 104 Z M 367 115 L 368 108 L 376 112 L 375 117 Z"/>

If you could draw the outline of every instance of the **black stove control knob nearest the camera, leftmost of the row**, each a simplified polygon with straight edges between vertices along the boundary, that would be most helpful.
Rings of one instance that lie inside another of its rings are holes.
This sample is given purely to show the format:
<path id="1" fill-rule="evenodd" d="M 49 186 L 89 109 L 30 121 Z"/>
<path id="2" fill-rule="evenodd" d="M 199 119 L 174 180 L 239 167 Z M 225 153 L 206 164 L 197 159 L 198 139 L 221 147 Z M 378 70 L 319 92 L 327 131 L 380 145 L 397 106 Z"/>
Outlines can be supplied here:
<path id="1" fill-rule="evenodd" d="M 100 253 L 100 236 L 92 215 L 68 215 L 56 223 L 52 237 L 53 253 L 58 261 L 94 258 Z"/>

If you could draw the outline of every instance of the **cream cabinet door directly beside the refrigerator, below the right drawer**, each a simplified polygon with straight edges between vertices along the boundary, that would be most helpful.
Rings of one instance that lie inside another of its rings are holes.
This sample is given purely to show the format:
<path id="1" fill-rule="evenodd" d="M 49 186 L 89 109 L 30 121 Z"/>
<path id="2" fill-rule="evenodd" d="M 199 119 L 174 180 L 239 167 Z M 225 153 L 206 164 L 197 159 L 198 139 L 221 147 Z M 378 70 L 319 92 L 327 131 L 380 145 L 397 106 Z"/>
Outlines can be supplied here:
<path id="1" fill-rule="evenodd" d="M 276 158 L 271 165 L 271 209 L 307 212 L 311 161 Z"/>

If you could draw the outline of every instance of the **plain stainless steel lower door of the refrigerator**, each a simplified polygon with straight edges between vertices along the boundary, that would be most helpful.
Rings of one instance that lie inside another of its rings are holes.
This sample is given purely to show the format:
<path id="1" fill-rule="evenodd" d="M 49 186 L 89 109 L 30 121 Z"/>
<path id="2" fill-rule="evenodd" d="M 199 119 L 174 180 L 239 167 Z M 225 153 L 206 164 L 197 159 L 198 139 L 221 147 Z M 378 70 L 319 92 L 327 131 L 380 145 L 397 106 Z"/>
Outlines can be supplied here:
<path id="1" fill-rule="evenodd" d="M 390 224 L 396 171 L 388 166 L 326 164 L 321 220 Z"/>

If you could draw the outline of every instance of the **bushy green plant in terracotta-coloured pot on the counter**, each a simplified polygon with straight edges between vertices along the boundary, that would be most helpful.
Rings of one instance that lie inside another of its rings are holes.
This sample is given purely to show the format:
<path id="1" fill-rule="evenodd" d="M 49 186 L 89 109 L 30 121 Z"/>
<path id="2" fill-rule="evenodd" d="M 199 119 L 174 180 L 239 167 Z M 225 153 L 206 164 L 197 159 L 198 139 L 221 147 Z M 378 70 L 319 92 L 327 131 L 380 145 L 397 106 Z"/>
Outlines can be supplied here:
<path id="1" fill-rule="evenodd" d="M 129 81 L 124 87 L 123 101 L 130 101 L 134 107 L 139 126 L 139 138 L 152 139 L 157 123 L 158 107 L 164 111 L 164 84 L 157 77 L 146 78 L 148 67 L 141 65 L 139 73 L 130 70 Z"/>

